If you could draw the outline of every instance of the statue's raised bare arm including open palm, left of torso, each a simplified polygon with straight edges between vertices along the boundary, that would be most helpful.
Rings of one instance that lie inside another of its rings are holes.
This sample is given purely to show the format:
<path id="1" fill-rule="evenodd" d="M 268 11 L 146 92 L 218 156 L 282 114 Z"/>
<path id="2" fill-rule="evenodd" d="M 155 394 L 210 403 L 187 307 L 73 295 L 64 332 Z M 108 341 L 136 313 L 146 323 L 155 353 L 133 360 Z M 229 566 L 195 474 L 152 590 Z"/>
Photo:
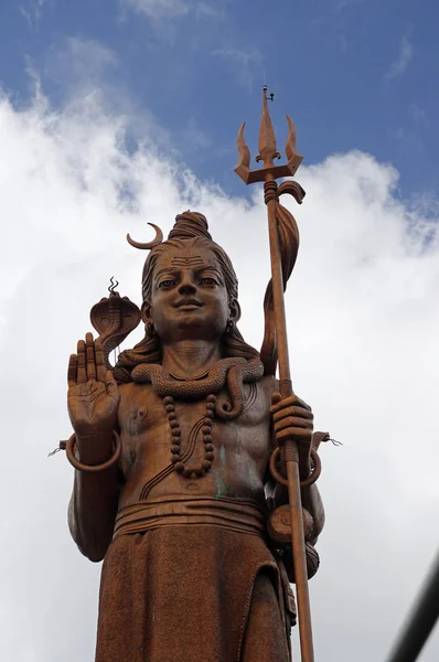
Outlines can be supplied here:
<path id="1" fill-rule="evenodd" d="M 77 459 L 99 466 L 113 455 L 120 393 L 105 369 L 103 348 L 87 333 L 68 363 L 68 415 L 76 434 Z M 120 493 L 117 466 L 94 472 L 75 469 L 68 525 L 81 552 L 101 560 L 111 542 Z"/>

